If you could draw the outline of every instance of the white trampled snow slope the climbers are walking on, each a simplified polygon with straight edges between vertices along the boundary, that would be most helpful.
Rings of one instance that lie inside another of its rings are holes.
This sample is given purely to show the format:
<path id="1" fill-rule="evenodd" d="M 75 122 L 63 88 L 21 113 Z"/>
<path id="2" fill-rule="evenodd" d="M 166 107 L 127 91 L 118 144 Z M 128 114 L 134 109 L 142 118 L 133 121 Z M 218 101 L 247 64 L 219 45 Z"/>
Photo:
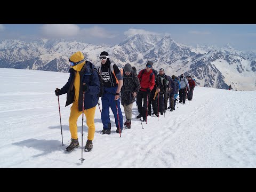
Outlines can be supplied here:
<path id="1" fill-rule="evenodd" d="M 176 105 L 165 117 L 135 119 L 121 138 L 102 135 L 100 110 L 95 112 L 95 135 L 90 153 L 68 153 L 69 113 L 66 94 L 60 95 L 63 144 L 55 88 L 69 74 L 0 68 L 0 167 L 256 167 L 256 91 L 228 91 L 195 87 L 193 101 Z M 101 103 L 100 103 L 101 107 Z M 110 110 L 111 111 L 111 110 Z M 125 120 L 124 110 L 123 116 Z M 78 118 L 82 145 L 82 115 Z M 86 118 L 83 149 L 87 140 Z"/>

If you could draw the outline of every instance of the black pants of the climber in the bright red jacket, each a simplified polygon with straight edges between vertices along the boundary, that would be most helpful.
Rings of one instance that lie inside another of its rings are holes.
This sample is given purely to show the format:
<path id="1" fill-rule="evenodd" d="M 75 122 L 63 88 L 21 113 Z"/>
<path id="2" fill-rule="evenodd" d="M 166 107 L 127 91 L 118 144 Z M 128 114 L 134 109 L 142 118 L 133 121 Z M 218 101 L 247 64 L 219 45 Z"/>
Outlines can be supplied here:
<path id="1" fill-rule="evenodd" d="M 147 118 L 147 114 L 146 114 L 147 105 L 148 105 L 147 97 L 148 97 L 148 100 L 150 100 L 150 94 L 148 94 L 146 91 L 139 90 L 137 94 L 137 105 L 138 105 L 140 116 L 142 116 L 143 119 L 145 120 Z M 143 108 L 142 108 L 142 100 L 143 100 Z"/>

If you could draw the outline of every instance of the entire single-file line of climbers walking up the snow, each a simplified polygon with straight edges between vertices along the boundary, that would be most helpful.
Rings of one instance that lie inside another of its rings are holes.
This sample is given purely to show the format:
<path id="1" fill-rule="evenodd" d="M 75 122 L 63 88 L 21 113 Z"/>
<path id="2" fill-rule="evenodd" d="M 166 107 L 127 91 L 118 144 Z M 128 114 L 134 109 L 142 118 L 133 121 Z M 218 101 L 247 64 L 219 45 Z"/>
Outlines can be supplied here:
<path id="1" fill-rule="evenodd" d="M 95 109 L 101 97 L 102 110 L 101 121 L 103 130 L 101 134 L 111 133 L 110 111 L 115 117 L 116 133 L 120 134 L 123 126 L 131 129 L 132 106 L 136 101 L 139 115 L 137 118 L 143 118 L 147 122 L 147 116 L 151 116 L 151 105 L 153 114 L 159 117 L 167 110 L 169 99 L 170 111 L 175 110 L 175 103 L 180 95 L 179 102 L 185 104 L 185 98 L 188 94 L 188 100 L 192 100 L 195 81 L 188 76 L 186 79 L 183 74 L 181 77 L 165 75 L 164 69 L 157 71 L 153 69 L 153 62 L 148 61 L 146 68 L 139 71 L 126 63 L 124 69 L 120 70 L 109 60 L 109 54 L 106 51 L 100 53 L 100 67 L 97 69 L 90 61 L 86 61 L 82 52 L 78 51 L 70 56 L 69 78 L 68 82 L 61 88 L 55 90 L 55 95 L 67 93 L 66 106 L 72 103 L 69 116 L 69 130 L 71 134 L 71 143 L 66 148 L 67 151 L 73 151 L 79 147 L 77 136 L 77 119 L 84 112 L 86 124 L 88 126 L 87 142 L 85 151 L 91 151 L 94 139 Z M 188 92 L 186 91 L 188 90 Z M 179 93 L 178 93 L 179 91 Z M 186 94 L 187 93 L 187 94 Z M 84 97 L 84 98 L 83 98 Z M 83 102 L 84 100 L 84 102 Z M 143 106 L 142 106 L 143 102 Z M 126 117 L 123 123 L 123 115 L 120 104 L 123 105 Z M 99 106 L 100 108 L 100 106 Z"/>

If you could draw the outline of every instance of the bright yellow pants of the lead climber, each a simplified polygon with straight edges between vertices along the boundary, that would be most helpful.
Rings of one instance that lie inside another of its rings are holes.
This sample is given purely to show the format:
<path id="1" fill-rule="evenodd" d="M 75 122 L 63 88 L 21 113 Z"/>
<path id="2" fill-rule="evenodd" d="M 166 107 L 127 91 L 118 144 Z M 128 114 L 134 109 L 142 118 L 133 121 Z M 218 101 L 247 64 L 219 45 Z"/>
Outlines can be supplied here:
<path id="1" fill-rule="evenodd" d="M 88 126 L 88 137 L 87 139 L 93 140 L 95 133 L 95 124 L 94 124 L 94 115 L 95 115 L 96 106 L 90 109 L 84 110 L 84 114 L 86 117 L 86 124 Z M 69 116 L 69 130 L 71 133 L 72 139 L 77 139 L 77 119 L 83 113 L 83 111 L 78 111 L 77 103 L 73 102 L 73 105 L 70 108 L 70 116 Z M 85 119 L 84 119 L 85 120 Z"/>

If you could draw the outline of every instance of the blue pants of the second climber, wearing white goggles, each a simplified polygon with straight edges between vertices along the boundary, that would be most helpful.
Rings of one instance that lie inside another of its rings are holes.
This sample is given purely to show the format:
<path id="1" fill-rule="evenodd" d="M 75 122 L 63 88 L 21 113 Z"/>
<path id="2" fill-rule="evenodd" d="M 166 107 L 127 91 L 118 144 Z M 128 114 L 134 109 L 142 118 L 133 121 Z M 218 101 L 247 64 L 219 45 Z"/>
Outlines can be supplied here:
<path id="1" fill-rule="evenodd" d="M 109 107 L 111 108 L 111 111 L 114 114 L 116 127 L 119 127 L 117 112 L 116 112 L 116 105 L 118 109 L 120 129 L 121 130 L 123 129 L 123 114 L 120 108 L 120 99 L 115 100 L 116 90 L 117 90 L 117 86 L 104 87 L 104 93 L 101 97 L 101 105 L 102 105 L 101 121 L 103 124 L 103 129 L 111 129 Z"/>

